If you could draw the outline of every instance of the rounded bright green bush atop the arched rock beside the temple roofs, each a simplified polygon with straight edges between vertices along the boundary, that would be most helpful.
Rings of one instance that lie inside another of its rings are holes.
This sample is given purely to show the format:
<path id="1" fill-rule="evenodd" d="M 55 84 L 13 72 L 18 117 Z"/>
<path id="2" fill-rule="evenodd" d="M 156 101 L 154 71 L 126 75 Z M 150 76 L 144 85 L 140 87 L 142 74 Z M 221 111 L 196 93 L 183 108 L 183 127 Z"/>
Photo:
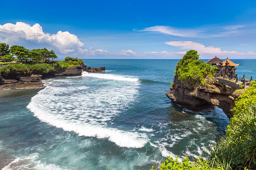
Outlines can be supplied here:
<path id="1" fill-rule="evenodd" d="M 198 60 L 197 51 L 188 51 L 178 62 L 175 73 L 179 80 L 189 83 L 192 87 L 204 86 L 215 75 L 215 67 Z"/>

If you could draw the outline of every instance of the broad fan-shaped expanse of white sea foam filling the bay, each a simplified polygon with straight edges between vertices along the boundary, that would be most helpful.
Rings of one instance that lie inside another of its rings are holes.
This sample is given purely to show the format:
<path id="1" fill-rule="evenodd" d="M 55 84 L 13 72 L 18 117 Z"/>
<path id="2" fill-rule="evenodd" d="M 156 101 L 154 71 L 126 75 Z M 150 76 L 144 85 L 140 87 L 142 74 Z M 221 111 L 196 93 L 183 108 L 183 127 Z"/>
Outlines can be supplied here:
<path id="1" fill-rule="evenodd" d="M 90 75 L 97 78 L 104 76 L 96 73 Z M 32 97 L 27 108 L 41 121 L 65 131 L 74 131 L 83 136 L 108 138 L 121 147 L 143 147 L 148 141 L 145 133 L 108 126 L 113 124 L 113 119 L 134 101 L 138 93 L 138 83 L 130 83 L 135 78 L 108 75 L 107 79 L 110 78 L 111 80 L 106 81 L 118 82 L 99 88 L 86 88 L 86 85 L 76 84 L 70 79 L 50 80 L 45 82 L 45 89 Z"/>

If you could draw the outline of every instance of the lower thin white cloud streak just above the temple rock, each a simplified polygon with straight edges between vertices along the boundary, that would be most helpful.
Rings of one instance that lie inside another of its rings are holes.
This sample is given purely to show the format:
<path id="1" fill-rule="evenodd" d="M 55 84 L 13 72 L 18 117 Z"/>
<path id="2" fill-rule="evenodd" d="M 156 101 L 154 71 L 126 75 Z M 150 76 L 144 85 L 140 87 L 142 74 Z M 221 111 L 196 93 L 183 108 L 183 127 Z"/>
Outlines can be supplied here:
<path id="1" fill-rule="evenodd" d="M 205 47 L 203 44 L 192 42 L 192 41 L 170 41 L 165 42 L 165 44 L 180 47 L 181 49 L 186 50 L 197 50 L 199 54 L 212 54 L 212 55 L 256 55 L 256 53 L 248 52 L 248 53 L 239 53 L 236 51 L 225 51 L 220 48 L 215 48 L 213 46 Z"/>

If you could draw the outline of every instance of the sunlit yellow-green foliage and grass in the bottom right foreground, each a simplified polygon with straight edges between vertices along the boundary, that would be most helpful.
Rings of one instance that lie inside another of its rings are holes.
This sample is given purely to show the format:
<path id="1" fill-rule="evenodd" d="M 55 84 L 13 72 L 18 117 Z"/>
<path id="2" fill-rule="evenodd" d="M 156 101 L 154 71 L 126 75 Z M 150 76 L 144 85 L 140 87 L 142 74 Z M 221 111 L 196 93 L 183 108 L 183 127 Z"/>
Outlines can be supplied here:
<path id="1" fill-rule="evenodd" d="M 226 138 L 221 137 L 216 145 L 195 162 L 183 158 L 182 162 L 172 157 L 156 169 L 256 169 L 256 82 L 251 82 L 238 97 L 233 108 L 234 116 L 227 127 Z M 152 167 L 151 170 L 154 168 Z"/>

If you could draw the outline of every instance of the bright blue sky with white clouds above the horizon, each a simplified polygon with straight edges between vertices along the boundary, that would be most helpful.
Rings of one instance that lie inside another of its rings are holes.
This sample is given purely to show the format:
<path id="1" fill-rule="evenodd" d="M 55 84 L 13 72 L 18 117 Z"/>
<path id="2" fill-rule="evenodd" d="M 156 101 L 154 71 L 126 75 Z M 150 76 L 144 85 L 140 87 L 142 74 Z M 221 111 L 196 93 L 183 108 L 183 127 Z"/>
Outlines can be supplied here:
<path id="1" fill-rule="evenodd" d="M 256 1 L 2 1 L 0 43 L 59 58 L 256 59 Z"/>

